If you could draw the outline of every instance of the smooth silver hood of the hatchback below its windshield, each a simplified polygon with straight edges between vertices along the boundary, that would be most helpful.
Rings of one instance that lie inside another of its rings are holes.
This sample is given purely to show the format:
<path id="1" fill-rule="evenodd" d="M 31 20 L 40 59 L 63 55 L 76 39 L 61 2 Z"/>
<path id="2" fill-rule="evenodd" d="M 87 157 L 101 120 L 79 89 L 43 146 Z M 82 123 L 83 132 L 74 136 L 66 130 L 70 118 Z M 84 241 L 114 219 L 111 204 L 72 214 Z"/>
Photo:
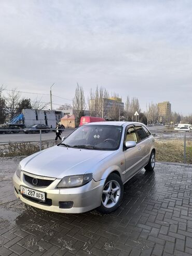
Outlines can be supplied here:
<path id="1" fill-rule="evenodd" d="M 20 165 L 23 171 L 62 179 L 65 176 L 92 173 L 99 161 L 113 153 L 53 146 L 24 158 Z"/>

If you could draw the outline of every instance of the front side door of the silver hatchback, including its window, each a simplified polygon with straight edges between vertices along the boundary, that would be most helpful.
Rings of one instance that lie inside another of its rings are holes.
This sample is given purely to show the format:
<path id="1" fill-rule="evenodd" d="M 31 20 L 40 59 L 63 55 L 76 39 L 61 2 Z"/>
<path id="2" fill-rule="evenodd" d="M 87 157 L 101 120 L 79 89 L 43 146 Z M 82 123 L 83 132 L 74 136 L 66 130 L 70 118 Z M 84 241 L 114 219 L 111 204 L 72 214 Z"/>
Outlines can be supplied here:
<path id="1" fill-rule="evenodd" d="M 125 147 L 126 141 L 135 141 L 136 146 L 127 149 Z M 140 161 L 141 161 L 141 146 L 138 144 L 138 136 L 134 126 L 128 126 L 125 130 L 124 137 L 124 155 L 126 161 L 125 172 L 123 173 L 126 177 L 125 180 L 129 180 L 136 172 L 140 170 Z"/>

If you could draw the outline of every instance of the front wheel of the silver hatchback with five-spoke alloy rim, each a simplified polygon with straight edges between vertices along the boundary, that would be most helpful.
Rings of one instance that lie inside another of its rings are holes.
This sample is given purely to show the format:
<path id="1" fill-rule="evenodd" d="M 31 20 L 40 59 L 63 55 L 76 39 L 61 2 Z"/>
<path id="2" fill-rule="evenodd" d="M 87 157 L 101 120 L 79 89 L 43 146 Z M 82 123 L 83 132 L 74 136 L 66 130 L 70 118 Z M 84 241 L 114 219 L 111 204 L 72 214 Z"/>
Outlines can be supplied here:
<path id="1" fill-rule="evenodd" d="M 98 208 L 100 212 L 111 213 L 121 204 L 124 196 L 124 184 L 121 178 L 115 174 L 109 174 L 103 187 L 101 205 Z"/>

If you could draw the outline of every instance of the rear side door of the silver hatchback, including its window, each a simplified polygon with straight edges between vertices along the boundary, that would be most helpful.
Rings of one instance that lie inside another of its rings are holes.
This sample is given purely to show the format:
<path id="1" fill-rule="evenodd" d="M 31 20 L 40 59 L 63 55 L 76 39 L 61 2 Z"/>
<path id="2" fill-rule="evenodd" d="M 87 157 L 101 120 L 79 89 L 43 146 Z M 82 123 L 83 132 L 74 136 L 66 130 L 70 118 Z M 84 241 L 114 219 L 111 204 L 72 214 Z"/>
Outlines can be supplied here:
<path id="1" fill-rule="evenodd" d="M 147 133 L 147 129 L 142 126 L 138 125 L 135 126 L 136 133 L 138 135 L 138 146 L 140 147 L 140 169 L 142 169 L 147 163 L 150 156 L 150 133 Z"/>

